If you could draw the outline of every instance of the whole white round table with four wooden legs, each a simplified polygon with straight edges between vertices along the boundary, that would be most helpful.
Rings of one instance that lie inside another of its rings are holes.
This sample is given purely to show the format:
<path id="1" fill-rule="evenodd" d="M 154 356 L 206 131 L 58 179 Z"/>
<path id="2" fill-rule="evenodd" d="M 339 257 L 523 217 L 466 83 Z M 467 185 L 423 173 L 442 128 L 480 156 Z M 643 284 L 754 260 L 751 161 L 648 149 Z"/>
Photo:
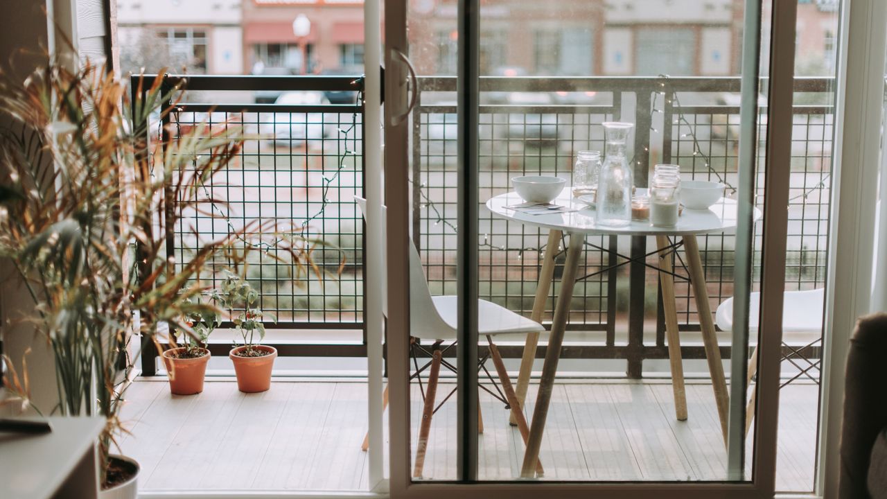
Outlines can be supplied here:
<path id="1" fill-rule="evenodd" d="M 545 430 L 554 377 L 557 372 L 558 360 L 561 357 L 563 335 L 569 318 L 569 306 L 577 278 L 579 257 L 585 245 L 585 235 L 588 234 L 655 236 L 656 238 L 675 412 L 679 420 L 687 419 L 687 395 L 684 390 L 684 370 L 680 356 L 678 314 L 675 304 L 673 277 L 674 252 L 681 244 L 671 242 L 669 237 L 679 236 L 682 238 L 682 245 L 687 255 L 687 271 L 693 286 L 696 309 L 699 313 L 705 355 L 711 375 L 711 386 L 715 393 L 721 430 L 726 444 L 729 392 L 727 392 L 724 367 L 721 363 L 720 350 L 718 349 L 718 338 L 715 336 L 715 326 L 712 320 L 708 291 L 705 286 L 705 274 L 703 273 L 703 264 L 696 236 L 700 234 L 732 234 L 738 222 L 736 201 L 721 198 L 720 201 L 716 202 L 708 210 L 688 210 L 685 208 L 678 219 L 678 224 L 673 227 L 655 227 L 647 220 L 632 221 L 631 224 L 624 227 L 609 227 L 599 226 L 595 220 L 593 207 L 588 206 L 585 202 L 573 199 L 571 194 L 572 189 L 565 188 L 563 194 L 553 201 L 554 205 L 568 207 L 569 211 L 544 213 L 541 215 L 534 215 L 514 209 L 515 205 L 523 203 L 523 200 L 514 192 L 499 194 L 490 198 L 486 203 L 487 209 L 495 217 L 518 222 L 526 226 L 546 228 L 549 231 L 542 270 L 539 273 L 536 301 L 533 304 L 533 312 L 530 315 L 530 318 L 534 321 L 541 321 L 542 313 L 545 311 L 546 298 L 551 289 L 554 273 L 554 257 L 557 255 L 561 238 L 564 233 L 571 235 L 567 249 L 567 261 L 564 264 L 561 276 L 560 292 L 554 307 L 546 360 L 542 368 L 542 377 L 539 380 L 539 392 L 530 425 L 530 436 L 523 456 L 521 476 L 532 478 L 535 475 L 535 464 L 537 463 L 539 448 L 541 448 L 542 444 L 542 433 Z M 760 210 L 754 209 L 754 220 L 757 220 L 760 216 Z M 526 399 L 527 386 L 530 383 L 530 370 L 536 357 L 537 345 L 538 334 L 528 335 L 527 344 L 523 350 L 521 371 L 518 376 L 516 390 L 518 400 L 521 403 Z"/>

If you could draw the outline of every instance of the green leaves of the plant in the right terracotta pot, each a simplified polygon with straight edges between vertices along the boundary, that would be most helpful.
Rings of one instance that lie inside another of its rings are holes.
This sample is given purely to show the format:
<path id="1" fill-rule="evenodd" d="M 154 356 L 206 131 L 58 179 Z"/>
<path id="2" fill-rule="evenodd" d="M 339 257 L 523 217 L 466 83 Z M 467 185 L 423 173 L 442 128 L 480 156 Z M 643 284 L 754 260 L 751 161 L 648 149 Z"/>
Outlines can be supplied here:
<path id="1" fill-rule="evenodd" d="M 236 273 L 225 271 L 224 279 L 219 286 L 216 296 L 217 303 L 228 311 L 242 339 L 241 343 L 235 341 L 234 346 L 245 347 L 236 354 L 240 357 L 263 357 L 268 355 L 268 352 L 256 348 L 256 345 L 261 343 L 265 337 L 263 319 L 267 318 L 277 322 L 277 317 L 271 313 L 264 313 L 259 308 L 259 292 Z M 258 342 L 255 341 L 256 333 L 259 335 Z"/>

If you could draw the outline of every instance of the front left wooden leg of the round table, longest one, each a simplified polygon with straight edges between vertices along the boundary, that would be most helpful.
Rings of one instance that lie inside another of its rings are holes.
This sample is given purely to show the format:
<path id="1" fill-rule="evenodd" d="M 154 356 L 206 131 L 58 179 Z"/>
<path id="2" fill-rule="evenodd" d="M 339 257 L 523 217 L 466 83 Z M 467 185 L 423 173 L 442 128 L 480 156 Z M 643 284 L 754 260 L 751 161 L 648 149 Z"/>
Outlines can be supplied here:
<path id="1" fill-rule="evenodd" d="M 539 393 L 536 397 L 536 408 L 533 409 L 533 421 L 530 425 L 530 438 L 527 440 L 527 449 L 523 454 L 521 477 L 533 478 L 536 464 L 539 459 L 539 449 L 542 448 L 542 433 L 546 427 L 548 416 L 548 404 L 552 399 L 554 376 L 557 374 L 557 363 L 561 359 L 561 345 L 563 334 L 567 328 L 569 319 L 569 305 L 573 299 L 573 285 L 576 283 L 576 273 L 579 266 L 579 257 L 585 246 L 584 234 L 572 234 L 569 238 L 567 249 L 567 262 L 563 268 L 561 279 L 561 292 L 557 297 L 557 305 L 554 308 L 554 320 L 552 332 L 548 338 L 546 349 L 546 362 L 542 366 L 542 379 L 539 380 Z"/>

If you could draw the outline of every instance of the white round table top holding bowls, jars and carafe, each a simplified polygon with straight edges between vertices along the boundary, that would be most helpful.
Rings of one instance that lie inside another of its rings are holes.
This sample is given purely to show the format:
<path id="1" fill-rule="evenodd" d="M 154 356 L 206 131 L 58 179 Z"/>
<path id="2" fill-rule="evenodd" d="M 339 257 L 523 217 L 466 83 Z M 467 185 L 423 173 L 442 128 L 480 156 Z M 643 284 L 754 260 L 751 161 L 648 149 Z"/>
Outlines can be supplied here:
<path id="1" fill-rule="evenodd" d="M 561 206 L 569 206 L 577 211 L 565 213 L 546 213 L 530 215 L 518 210 L 506 208 L 521 204 L 523 200 L 517 193 L 509 192 L 493 196 L 487 201 L 487 209 L 498 218 L 513 220 L 527 226 L 538 226 L 556 229 L 570 234 L 612 234 L 612 235 L 693 235 L 693 234 L 731 234 L 736 229 L 737 204 L 735 200 L 721 198 L 708 210 L 689 210 L 684 208 L 673 227 L 655 227 L 649 220 L 632 220 L 624 227 L 599 226 L 595 220 L 594 208 L 585 202 L 572 197 L 572 189 L 565 188 L 563 193 L 553 202 Z M 761 211 L 755 208 L 754 219 L 761 217 Z"/>

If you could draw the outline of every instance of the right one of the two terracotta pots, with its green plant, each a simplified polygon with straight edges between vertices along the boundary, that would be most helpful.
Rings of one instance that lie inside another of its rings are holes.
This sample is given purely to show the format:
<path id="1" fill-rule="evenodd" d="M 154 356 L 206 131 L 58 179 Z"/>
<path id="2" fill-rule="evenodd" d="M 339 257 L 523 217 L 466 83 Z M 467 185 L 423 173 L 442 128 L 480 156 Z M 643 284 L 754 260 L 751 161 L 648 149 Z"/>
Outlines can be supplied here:
<path id="1" fill-rule="evenodd" d="M 239 333 L 239 341 L 235 339 L 234 348 L 228 354 L 234 363 L 237 387 L 240 392 L 265 392 L 271 388 L 271 368 L 277 349 L 259 343 L 265 337 L 263 319 L 276 322 L 277 318 L 262 312 L 258 307 L 258 291 L 234 273 L 226 273 L 218 295 Z"/>

